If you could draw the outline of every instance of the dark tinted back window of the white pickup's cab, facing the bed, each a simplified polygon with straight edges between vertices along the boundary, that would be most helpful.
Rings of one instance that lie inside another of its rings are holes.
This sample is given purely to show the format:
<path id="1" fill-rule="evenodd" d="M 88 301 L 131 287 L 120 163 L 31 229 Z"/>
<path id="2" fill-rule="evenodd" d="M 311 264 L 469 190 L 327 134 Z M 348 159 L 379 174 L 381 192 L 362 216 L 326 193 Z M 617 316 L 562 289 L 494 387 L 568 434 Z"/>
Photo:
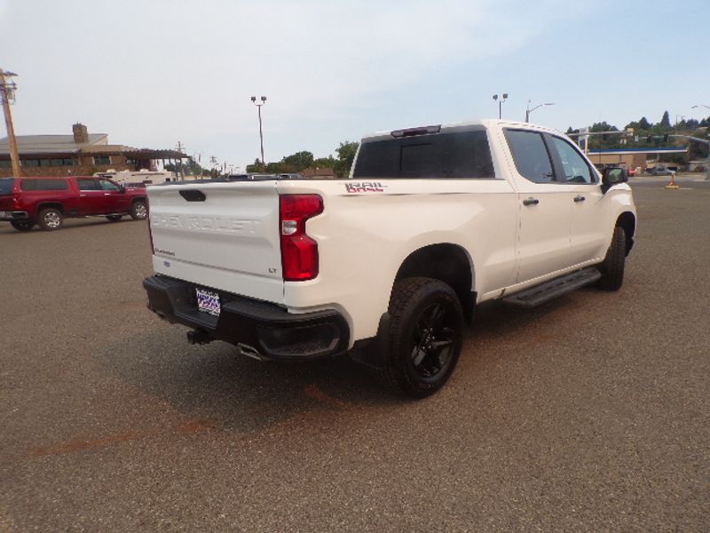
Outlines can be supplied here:
<path id="1" fill-rule="evenodd" d="M 485 130 L 363 142 L 354 178 L 495 178 Z"/>

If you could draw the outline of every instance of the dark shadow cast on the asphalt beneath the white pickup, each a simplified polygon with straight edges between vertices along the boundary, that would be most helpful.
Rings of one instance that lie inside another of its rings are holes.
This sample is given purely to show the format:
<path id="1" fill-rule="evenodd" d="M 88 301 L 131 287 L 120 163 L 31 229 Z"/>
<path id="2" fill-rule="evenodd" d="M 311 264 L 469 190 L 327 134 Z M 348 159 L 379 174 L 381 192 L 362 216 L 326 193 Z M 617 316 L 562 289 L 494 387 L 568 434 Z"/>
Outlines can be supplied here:
<path id="1" fill-rule="evenodd" d="M 534 310 L 481 306 L 476 326 L 464 333 L 461 361 L 468 361 L 459 364 L 447 387 L 466 380 L 468 372 L 500 362 L 506 356 L 496 347 L 501 338 L 519 343 L 521 335 L 534 336 L 534 323 L 556 314 L 560 306 L 564 303 L 551 302 Z M 95 355 L 123 382 L 167 402 L 185 418 L 233 433 L 261 432 L 298 417 L 317 417 L 325 423 L 343 415 L 351 417 L 352 410 L 389 410 L 412 404 L 380 386 L 348 356 L 315 362 L 258 362 L 221 342 L 190 346 L 179 326 L 161 324 L 142 336 L 105 346 Z M 431 400 L 441 394 L 446 394 L 446 388 Z"/>

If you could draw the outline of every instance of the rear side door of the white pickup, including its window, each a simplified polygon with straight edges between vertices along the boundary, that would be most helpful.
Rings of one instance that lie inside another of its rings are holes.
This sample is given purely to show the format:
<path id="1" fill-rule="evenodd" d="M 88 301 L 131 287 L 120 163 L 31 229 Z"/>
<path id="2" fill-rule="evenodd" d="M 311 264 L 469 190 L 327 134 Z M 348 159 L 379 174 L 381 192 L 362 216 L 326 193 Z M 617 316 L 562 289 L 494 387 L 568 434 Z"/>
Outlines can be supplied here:
<path id="1" fill-rule="evenodd" d="M 528 282 L 572 265 L 570 187 L 556 179 L 556 160 L 548 135 L 506 129 L 517 187 L 520 229 L 517 282 Z"/>

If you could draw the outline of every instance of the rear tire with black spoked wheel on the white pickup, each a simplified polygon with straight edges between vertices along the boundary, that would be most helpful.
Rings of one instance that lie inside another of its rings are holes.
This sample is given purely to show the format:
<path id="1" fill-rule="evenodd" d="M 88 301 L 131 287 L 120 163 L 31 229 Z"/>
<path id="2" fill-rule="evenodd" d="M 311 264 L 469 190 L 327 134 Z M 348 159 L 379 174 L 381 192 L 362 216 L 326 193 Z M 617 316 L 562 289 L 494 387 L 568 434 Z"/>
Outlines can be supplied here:
<path id="1" fill-rule="evenodd" d="M 383 368 L 386 386 L 412 398 L 436 393 L 451 376 L 461 354 L 463 313 L 454 290 L 430 278 L 395 283 Z"/>

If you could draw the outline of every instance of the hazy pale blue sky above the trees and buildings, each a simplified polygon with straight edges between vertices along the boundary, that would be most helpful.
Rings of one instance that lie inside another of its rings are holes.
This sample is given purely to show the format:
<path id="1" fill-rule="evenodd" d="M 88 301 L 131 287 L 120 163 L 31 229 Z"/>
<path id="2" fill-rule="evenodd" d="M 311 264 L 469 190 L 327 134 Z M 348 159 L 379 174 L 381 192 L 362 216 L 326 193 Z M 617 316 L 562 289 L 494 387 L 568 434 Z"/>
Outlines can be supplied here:
<path id="1" fill-rule="evenodd" d="M 112 143 L 244 167 L 372 131 L 497 116 L 565 130 L 710 115 L 707 0 L 0 0 L 18 135 L 85 123 Z M 4 133 L 4 132 L 3 132 Z M 3 135 L 0 135 L 3 136 Z"/>

